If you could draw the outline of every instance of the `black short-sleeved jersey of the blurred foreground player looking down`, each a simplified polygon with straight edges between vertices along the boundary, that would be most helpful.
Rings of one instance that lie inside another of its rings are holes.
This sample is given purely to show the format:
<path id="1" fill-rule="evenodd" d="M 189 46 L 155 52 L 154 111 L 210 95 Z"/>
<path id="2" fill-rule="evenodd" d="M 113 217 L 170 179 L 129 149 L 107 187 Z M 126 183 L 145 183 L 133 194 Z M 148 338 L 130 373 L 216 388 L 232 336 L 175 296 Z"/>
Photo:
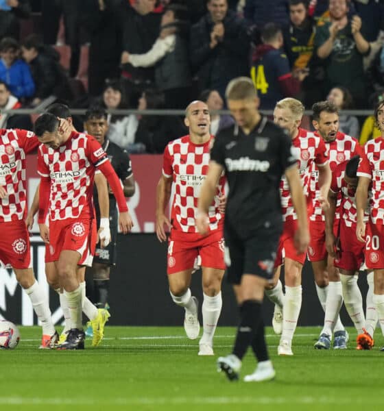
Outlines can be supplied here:
<path id="1" fill-rule="evenodd" d="M 281 224 L 280 179 L 296 164 L 283 129 L 265 116 L 248 135 L 232 125 L 216 136 L 211 160 L 224 166 L 228 179 L 226 223 L 244 232 L 267 221 Z"/>

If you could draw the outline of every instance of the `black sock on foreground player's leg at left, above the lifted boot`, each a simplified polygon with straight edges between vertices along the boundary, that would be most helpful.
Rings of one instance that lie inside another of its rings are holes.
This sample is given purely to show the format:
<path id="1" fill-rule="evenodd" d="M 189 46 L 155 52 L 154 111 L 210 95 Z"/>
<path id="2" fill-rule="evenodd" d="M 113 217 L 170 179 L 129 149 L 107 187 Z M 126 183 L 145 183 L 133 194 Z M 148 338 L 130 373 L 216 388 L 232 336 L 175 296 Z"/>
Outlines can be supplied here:
<path id="1" fill-rule="evenodd" d="M 244 301 L 240 306 L 240 324 L 237 328 L 235 347 L 232 353 L 240 360 L 254 340 L 261 319 L 261 303 L 255 300 Z"/>

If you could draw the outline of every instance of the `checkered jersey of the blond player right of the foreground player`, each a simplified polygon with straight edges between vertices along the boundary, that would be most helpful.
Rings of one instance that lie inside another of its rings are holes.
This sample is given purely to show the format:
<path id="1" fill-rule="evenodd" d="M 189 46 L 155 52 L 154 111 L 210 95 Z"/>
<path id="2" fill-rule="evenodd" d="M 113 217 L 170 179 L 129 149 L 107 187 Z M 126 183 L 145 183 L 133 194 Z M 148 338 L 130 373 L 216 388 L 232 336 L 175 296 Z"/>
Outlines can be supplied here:
<path id="1" fill-rule="evenodd" d="M 298 136 L 292 140 L 291 151 L 298 159 L 298 168 L 304 188 L 304 195 L 307 196 L 311 164 L 314 162 L 317 166 L 321 167 L 325 166 L 328 162 L 324 141 L 315 133 L 299 128 Z M 293 208 L 291 190 L 289 190 L 289 184 L 285 175 L 283 175 L 280 181 L 280 196 L 283 220 L 297 220 L 298 216 Z"/>

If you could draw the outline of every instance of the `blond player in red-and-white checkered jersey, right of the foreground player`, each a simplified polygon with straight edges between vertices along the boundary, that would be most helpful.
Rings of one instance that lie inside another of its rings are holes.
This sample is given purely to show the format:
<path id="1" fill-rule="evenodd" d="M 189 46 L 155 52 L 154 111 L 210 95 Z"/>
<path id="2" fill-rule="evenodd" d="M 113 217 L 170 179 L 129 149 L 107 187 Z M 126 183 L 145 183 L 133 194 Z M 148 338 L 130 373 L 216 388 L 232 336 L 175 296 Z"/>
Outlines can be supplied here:
<path id="1" fill-rule="evenodd" d="M 292 139 L 292 152 L 298 159 L 298 168 L 304 194 L 308 196 L 309 173 L 316 164 L 322 185 L 320 201 L 327 205 L 326 198 L 331 184 L 331 169 L 328 165 L 326 147 L 320 136 L 300 128 L 304 105 L 296 99 L 286 98 L 278 101 L 274 109 L 274 123 L 287 130 Z M 275 303 L 274 330 L 281 334 L 278 345 L 279 356 L 293 355 L 291 343 L 296 329 L 302 303 L 301 273 L 307 257 L 307 249 L 298 253 L 295 247 L 295 233 L 298 229 L 298 216 L 293 208 L 291 190 L 287 177 L 280 181 L 281 205 L 283 208 L 283 234 L 280 236 L 275 261 L 274 282 L 267 286 L 265 294 Z M 285 297 L 280 282 L 280 266 L 284 264 Z M 284 303 L 283 303 L 284 301 Z M 283 315 L 282 315 L 283 314 Z"/>

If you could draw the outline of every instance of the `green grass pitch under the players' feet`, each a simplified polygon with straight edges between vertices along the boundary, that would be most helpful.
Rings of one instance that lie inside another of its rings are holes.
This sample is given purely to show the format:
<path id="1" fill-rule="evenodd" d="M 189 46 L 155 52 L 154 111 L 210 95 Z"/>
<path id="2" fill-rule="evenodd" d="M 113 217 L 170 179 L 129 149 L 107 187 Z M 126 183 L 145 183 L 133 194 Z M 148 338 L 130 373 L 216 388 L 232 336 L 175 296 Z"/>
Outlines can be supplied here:
<path id="1" fill-rule="evenodd" d="M 107 327 L 100 347 L 39 350 L 40 329 L 20 327 L 21 342 L 0 351 L 1 410 L 379 410 L 384 403 L 383 337 L 372 351 L 313 349 L 319 327 L 299 327 L 294 356 L 276 354 L 268 327 L 274 382 L 228 382 L 215 360 L 230 352 L 235 329 L 219 327 L 215 356 L 197 356 L 182 327 Z M 251 353 L 242 376 L 255 367 Z"/>

